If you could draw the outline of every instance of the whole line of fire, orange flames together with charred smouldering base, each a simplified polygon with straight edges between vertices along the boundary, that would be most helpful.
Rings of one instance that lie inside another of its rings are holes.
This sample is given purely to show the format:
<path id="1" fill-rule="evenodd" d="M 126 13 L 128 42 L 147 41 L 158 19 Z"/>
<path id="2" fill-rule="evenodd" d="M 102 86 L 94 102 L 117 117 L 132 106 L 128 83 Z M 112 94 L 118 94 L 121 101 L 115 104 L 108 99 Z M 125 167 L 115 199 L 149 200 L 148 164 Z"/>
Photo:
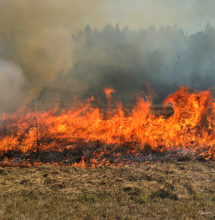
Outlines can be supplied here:
<path id="1" fill-rule="evenodd" d="M 215 102 L 209 91 L 181 86 L 162 106 L 142 97 L 129 107 L 114 101 L 114 92 L 104 89 L 106 108 L 91 97 L 69 109 L 39 111 L 33 105 L 3 114 L 0 166 L 121 166 L 188 154 L 215 160 Z"/>

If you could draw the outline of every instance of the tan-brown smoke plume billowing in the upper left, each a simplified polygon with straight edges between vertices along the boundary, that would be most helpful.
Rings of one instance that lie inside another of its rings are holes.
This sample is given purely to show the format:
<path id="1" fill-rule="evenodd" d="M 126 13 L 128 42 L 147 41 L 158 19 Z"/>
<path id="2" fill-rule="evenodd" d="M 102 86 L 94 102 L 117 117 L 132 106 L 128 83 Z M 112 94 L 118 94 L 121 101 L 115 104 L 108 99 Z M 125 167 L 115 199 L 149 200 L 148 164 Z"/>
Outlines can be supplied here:
<path id="1" fill-rule="evenodd" d="M 28 98 L 72 67 L 72 33 L 86 22 L 99 24 L 99 0 L 0 1 L 0 58 L 24 71 Z M 102 19 L 99 19 L 101 21 Z"/>

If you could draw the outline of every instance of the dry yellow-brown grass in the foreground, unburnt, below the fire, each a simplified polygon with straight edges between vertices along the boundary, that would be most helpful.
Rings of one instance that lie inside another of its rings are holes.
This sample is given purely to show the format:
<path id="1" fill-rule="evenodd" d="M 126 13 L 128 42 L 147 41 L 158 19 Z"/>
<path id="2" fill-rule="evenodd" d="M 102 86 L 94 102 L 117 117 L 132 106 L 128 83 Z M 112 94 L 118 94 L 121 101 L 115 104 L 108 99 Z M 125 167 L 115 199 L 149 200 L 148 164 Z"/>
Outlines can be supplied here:
<path id="1" fill-rule="evenodd" d="M 215 219 L 215 163 L 0 168 L 0 219 Z"/>

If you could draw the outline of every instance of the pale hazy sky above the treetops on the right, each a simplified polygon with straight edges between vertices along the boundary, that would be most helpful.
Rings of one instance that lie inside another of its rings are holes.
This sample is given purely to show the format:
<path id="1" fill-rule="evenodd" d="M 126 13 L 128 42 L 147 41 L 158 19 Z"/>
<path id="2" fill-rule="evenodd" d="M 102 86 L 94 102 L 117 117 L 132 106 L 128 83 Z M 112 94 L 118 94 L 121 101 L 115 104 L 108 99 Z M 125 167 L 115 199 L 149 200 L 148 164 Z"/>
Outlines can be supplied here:
<path id="1" fill-rule="evenodd" d="M 110 0 L 109 19 L 132 28 L 178 25 L 194 32 L 215 24 L 214 0 Z"/>

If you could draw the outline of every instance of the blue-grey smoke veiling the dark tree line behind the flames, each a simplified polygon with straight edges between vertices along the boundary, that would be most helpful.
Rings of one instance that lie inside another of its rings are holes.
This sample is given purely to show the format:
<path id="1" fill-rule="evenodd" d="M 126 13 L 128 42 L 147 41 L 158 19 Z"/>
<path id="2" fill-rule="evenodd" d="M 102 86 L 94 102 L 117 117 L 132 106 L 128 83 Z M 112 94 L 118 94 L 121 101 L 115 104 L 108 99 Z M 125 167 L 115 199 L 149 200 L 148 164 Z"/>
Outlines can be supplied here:
<path id="1" fill-rule="evenodd" d="M 215 28 L 209 24 L 190 35 L 176 26 L 139 31 L 87 26 L 74 36 L 74 44 L 73 68 L 40 98 L 59 94 L 63 102 L 74 95 L 104 99 L 102 89 L 113 87 L 123 102 L 131 102 L 149 84 L 160 102 L 180 85 L 199 90 L 215 85 Z"/>

